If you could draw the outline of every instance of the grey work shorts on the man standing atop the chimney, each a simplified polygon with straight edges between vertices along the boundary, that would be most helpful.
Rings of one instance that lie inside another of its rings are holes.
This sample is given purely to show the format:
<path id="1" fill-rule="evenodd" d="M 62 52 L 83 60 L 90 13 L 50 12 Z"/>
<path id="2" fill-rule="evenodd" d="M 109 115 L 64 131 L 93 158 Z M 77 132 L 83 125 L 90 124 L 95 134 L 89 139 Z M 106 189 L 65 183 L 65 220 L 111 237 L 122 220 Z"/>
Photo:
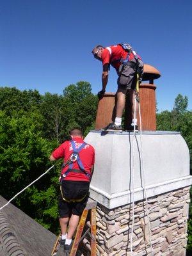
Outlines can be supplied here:
<path id="1" fill-rule="evenodd" d="M 136 60 L 131 60 L 131 63 L 136 64 Z M 138 59 L 138 69 L 143 73 L 143 61 Z M 117 79 L 117 84 L 118 84 L 118 90 L 117 92 L 122 92 L 124 94 L 127 94 L 127 91 L 132 89 L 134 90 L 136 88 L 136 82 L 137 82 L 137 77 L 136 77 L 136 65 L 135 67 L 130 67 L 129 65 L 120 65 L 119 68 L 119 76 Z"/>

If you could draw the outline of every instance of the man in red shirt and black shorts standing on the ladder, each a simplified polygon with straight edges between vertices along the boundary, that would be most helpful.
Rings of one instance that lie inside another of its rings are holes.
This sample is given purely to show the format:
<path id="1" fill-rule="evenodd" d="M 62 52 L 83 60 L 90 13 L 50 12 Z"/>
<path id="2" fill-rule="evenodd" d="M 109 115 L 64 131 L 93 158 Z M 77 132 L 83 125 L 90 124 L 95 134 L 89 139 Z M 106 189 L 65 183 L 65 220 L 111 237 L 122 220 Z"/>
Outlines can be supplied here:
<path id="1" fill-rule="evenodd" d="M 63 158 L 58 209 L 61 226 L 60 244 L 64 245 L 65 252 L 70 250 L 72 236 L 79 223 L 79 216 L 88 200 L 88 190 L 95 161 L 95 150 L 83 141 L 80 129 L 72 129 L 70 137 L 72 140 L 62 143 L 50 156 L 51 161 Z"/>

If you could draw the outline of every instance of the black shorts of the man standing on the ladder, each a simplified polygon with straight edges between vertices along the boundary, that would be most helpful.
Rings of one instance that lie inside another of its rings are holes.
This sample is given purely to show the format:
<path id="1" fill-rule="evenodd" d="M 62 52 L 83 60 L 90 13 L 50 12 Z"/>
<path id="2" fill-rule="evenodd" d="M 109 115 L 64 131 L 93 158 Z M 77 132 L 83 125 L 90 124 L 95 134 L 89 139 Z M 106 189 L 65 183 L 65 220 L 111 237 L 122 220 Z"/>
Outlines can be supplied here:
<path id="1" fill-rule="evenodd" d="M 60 218 L 69 217 L 71 214 L 80 216 L 86 206 L 89 197 L 90 182 L 63 180 L 61 184 L 65 199 L 84 199 L 81 202 L 66 202 L 59 196 L 58 210 Z"/>

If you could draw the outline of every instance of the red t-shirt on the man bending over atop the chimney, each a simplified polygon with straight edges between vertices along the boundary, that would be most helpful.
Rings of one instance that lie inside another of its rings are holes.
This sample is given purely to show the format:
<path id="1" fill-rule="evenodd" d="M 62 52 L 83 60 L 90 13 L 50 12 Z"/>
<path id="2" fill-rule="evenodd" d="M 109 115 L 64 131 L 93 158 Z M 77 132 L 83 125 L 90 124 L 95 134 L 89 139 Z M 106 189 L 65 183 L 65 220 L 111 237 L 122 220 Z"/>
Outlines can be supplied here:
<path id="1" fill-rule="evenodd" d="M 104 66 L 105 64 L 111 64 L 116 70 L 120 67 L 121 59 L 126 59 L 127 58 L 128 52 L 124 50 L 124 48 L 121 45 L 112 45 L 109 47 L 106 47 L 102 51 L 101 59 L 102 59 L 102 65 Z M 134 59 L 134 54 L 130 54 L 129 60 Z M 118 61 L 116 61 L 118 60 Z M 116 61 L 113 63 L 113 61 Z"/>

